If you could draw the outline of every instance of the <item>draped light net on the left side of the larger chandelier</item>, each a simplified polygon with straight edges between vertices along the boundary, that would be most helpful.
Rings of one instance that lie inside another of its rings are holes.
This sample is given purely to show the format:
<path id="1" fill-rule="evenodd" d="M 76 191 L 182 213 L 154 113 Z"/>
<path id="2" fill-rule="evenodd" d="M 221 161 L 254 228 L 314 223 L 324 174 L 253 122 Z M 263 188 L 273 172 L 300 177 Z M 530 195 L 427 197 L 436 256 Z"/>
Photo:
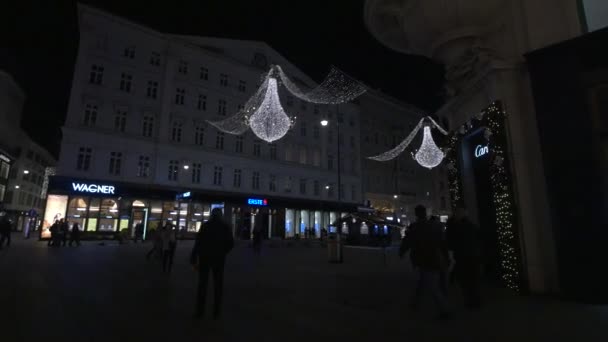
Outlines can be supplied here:
<path id="1" fill-rule="evenodd" d="M 249 118 L 264 101 L 271 72 L 272 70 L 263 76 L 262 83 L 258 90 L 249 98 L 249 100 L 247 100 L 243 108 L 236 114 L 224 120 L 207 120 L 207 122 L 224 133 L 240 135 L 247 132 L 249 129 Z"/>

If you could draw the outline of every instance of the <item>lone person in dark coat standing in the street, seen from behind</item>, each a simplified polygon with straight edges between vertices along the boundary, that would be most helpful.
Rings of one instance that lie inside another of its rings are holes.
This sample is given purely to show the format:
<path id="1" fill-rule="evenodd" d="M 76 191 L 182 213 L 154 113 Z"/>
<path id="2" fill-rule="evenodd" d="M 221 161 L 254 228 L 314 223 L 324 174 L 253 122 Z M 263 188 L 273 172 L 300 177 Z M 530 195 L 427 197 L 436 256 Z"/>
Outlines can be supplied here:
<path id="1" fill-rule="evenodd" d="M 196 236 L 194 248 L 192 248 L 192 254 L 190 255 L 190 263 L 199 272 L 196 318 L 201 318 L 205 312 L 209 272 L 213 274 L 213 317 L 218 319 L 220 316 L 224 286 L 224 263 L 226 255 L 234 247 L 230 226 L 224 222 L 222 215 L 220 208 L 211 211 L 209 221 L 203 225 Z"/>

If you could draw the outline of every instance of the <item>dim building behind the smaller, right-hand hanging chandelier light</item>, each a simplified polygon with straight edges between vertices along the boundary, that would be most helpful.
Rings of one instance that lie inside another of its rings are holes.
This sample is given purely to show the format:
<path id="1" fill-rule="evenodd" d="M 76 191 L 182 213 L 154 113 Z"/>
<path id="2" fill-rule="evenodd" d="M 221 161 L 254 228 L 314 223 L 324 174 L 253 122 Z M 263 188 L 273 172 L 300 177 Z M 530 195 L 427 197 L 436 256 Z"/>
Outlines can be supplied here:
<path id="1" fill-rule="evenodd" d="M 362 113 L 363 189 L 371 206 L 404 225 L 413 219 L 417 205 L 424 205 L 429 215 L 447 219 L 450 209 L 444 165 L 433 170 L 421 167 L 408 153 L 411 148 L 389 162 L 366 158 L 401 143 L 426 114 L 372 90 L 358 103 Z M 412 146 L 418 147 L 420 141 L 414 139 Z"/>

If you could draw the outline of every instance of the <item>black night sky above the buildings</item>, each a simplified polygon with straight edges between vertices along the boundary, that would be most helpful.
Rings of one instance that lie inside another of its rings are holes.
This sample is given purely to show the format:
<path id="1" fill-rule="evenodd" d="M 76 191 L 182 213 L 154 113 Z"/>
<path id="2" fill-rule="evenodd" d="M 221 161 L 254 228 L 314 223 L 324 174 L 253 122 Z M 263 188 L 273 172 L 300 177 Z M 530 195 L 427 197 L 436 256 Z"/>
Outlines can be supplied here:
<path id="1" fill-rule="evenodd" d="M 10 28 L 0 68 L 26 92 L 23 126 L 57 153 L 78 44 L 76 2 L 14 2 L 0 10 Z M 83 2 L 163 32 L 265 41 L 317 81 L 333 64 L 422 109 L 441 104 L 443 68 L 378 43 L 363 24 L 363 0 Z"/>

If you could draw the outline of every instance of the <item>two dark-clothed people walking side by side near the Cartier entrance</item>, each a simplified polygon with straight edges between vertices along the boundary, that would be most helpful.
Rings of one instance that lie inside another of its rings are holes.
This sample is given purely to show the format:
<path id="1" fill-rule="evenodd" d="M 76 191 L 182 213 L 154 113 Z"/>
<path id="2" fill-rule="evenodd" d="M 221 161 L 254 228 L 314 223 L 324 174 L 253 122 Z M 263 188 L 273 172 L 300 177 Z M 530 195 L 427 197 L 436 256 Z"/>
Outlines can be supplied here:
<path id="1" fill-rule="evenodd" d="M 482 267 L 479 228 L 467 218 L 464 208 L 456 210 L 445 229 L 439 220 L 427 217 L 424 206 L 417 206 L 415 215 L 416 222 L 408 227 L 399 250 L 401 257 L 409 251 L 412 265 L 418 273 L 410 303 L 412 309 L 418 309 L 423 293 L 429 291 L 439 310 L 439 318 L 449 318 L 447 295 L 450 283 L 459 285 L 467 308 L 479 308 Z"/>

